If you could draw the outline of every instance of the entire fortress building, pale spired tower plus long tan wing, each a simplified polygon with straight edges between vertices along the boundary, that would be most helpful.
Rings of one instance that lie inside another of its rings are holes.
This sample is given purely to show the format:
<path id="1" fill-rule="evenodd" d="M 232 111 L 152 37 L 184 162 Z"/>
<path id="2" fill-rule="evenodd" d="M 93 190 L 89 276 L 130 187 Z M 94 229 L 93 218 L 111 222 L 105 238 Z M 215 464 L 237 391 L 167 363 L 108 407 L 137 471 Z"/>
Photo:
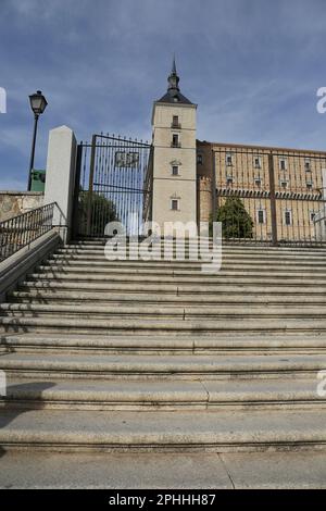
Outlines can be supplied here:
<path id="1" fill-rule="evenodd" d="M 174 61 L 167 92 L 153 105 L 147 219 L 215 220 L 233 199 L 249 213 L 256 241 L 325 239 L 326 152 L 201 141 L 196 113 L 197 104 L 180 92 Z"/>

